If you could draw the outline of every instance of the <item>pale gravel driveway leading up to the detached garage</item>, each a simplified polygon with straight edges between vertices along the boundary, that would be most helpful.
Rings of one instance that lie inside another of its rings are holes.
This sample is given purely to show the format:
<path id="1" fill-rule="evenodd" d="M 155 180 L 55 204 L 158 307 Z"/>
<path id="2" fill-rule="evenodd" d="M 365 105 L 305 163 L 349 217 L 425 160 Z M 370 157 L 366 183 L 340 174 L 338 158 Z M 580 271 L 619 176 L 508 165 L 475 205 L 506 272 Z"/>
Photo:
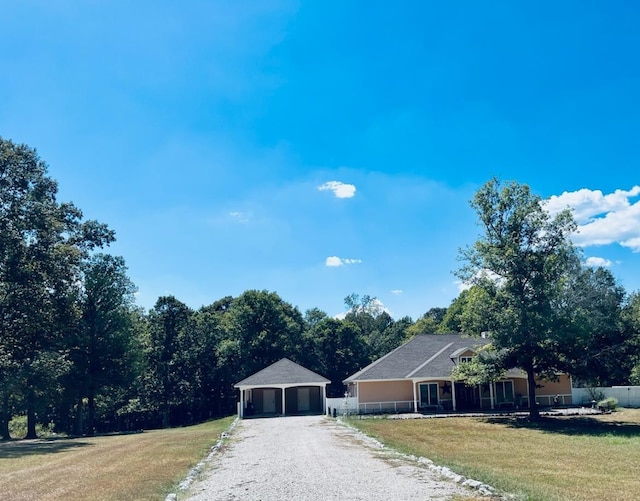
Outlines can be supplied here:
<path id="1" fill-rule="evenodd" d="M 325 416 L 240 421 L 201 476 L 189 489 L 189 501 L 444 500 L 478 494 Z"/>

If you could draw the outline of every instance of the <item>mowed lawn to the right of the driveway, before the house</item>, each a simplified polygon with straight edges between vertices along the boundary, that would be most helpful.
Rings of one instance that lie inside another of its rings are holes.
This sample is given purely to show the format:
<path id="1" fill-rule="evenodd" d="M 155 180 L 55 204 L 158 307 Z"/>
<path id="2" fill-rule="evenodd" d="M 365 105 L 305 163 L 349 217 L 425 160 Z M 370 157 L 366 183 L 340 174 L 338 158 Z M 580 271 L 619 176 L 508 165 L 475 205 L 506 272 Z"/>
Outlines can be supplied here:
<path id="1" fill-rule="evenodd" d="M 590 417 L 353 419 L 389 447 L 526 500 L 640 499 L 640 410 Z"/>

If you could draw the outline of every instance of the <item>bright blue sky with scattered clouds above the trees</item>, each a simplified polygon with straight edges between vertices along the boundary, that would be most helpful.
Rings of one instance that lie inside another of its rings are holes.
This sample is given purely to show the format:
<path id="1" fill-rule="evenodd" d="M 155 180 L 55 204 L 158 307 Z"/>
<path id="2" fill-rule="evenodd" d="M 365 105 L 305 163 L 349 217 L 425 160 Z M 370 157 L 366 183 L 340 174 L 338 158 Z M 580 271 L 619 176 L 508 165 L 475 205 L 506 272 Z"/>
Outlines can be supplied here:
<path id="1" fill-rule="evenodd" d="M 116 231 L 138 304 L 459 294 L 491 177 L 571 204 L 640 289 L 635 2 L 30 1 L 0 15 L 0 136 Z"/>

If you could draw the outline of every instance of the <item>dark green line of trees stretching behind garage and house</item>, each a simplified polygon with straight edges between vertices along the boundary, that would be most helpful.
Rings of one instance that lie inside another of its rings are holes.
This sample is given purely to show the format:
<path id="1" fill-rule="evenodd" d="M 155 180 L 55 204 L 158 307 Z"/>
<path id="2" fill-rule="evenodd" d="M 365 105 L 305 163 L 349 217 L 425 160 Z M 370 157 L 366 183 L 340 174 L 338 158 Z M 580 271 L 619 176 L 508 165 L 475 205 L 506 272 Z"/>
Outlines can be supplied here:
<path id="1" fill-rule="evenodd" d="M 515 213 L 501 212 L 505 200 L 540 215 L 525 187 L 498 188 L 488 183 L 474 202 L 497 218 L 490 227 L 517 226 L 498 224 Z M 14 416 L 26 416 L 26 437 L 34 438 L 36 425 L 93 435 L 230 415 L 233 384 L 282 357 L 330 379 L 329 396 L 340 396 L 346 377 L 417 334 L 492 332 L 485 374 L 490 363 L 496 370 L 518 363 L 532 374 L 567 370 L 594 385 L 640 383 L 638 294 L 627 295 L 608 270 L 582 267 L 561 238 L 571 228 L 565 222 L 560 236 L 536 227 L 544 238 L 556 235 L 556 247 L 523 247 L 513 234 L 487 231 L 495 241 L 467 250 L 460 271 L 472 287 L 416 321 L 394 320 L 366 295 L 345 298 L 338 319 L 317 308 L 302 313 L 266 290 L 195 310 L 163 296 L 144 311 L 125 260 L 104 251 L 113 231 L 57 200 L 34 149 L 0 138 L 0 436 L 10 438 Z M 507 250 L 509 263 L 523 258 L 513 269 L 498 259 Z M 501 272 L 501 281 L 482 278 L 479 268 Z M 469 367 L 466 377 L 482 371 Z"/>

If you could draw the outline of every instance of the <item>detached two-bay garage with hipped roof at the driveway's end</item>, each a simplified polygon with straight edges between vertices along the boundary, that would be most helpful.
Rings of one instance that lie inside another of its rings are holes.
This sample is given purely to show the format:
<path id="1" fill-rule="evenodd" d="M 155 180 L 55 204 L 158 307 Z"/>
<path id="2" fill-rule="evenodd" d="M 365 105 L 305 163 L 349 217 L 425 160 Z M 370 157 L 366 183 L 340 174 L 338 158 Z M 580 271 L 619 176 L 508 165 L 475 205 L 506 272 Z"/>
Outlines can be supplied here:
<path id="1" fill-rule="evenodd" d="M 326 387 L 330 382 L 283 358 L 234 385 L 240 390 L 238 415 L 245 418 L 324 414 Z"/>

